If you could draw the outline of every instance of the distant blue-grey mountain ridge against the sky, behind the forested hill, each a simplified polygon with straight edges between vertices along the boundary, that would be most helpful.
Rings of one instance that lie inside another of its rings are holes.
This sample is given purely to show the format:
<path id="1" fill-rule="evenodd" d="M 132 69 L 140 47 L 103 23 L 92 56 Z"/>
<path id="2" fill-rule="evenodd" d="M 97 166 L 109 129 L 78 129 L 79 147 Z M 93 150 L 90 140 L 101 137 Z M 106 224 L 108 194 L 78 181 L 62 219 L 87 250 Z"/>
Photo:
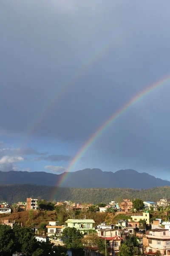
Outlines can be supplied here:
<path id="1" fill-rule="evenodd" d="M 57 186 L 65 176 L 47 172 L 1 172 L 0 185 L 36 184 Z M 101 169 L 83 169 L 70 172 L 62 187 L 75 188 L 131 188 L 149 189 L 156 186 L 170 186 L 170 181 L 161 180 L 147 173 L 126 169 L 117 172 L 103 172 Z"/>

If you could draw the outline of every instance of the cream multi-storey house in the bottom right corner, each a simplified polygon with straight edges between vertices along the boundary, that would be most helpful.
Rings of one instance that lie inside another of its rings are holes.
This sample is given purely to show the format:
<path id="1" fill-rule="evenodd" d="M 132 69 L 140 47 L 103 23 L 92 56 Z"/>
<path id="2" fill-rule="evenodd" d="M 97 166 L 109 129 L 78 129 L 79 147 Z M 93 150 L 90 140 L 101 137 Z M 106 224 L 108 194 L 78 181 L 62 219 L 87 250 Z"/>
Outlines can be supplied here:
<path id="1" fill-rule="evenodd" d="M 146 233 L 145 253 L 159 251 L 161 255 L 170 255 L 170 235 L 167 229 L 148 230 Z"/>

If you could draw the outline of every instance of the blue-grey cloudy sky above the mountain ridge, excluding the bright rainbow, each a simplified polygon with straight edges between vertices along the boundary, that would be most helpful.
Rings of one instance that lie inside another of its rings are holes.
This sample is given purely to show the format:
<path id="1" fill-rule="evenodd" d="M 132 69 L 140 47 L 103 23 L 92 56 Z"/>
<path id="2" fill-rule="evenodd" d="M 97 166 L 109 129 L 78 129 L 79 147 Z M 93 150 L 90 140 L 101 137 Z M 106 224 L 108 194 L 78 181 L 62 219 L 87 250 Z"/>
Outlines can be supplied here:
<path id="1" fill-rule="evenodd" d="M 135 169 L 170 180 L 170 1 L 0 2 L 0 170 Z"/>

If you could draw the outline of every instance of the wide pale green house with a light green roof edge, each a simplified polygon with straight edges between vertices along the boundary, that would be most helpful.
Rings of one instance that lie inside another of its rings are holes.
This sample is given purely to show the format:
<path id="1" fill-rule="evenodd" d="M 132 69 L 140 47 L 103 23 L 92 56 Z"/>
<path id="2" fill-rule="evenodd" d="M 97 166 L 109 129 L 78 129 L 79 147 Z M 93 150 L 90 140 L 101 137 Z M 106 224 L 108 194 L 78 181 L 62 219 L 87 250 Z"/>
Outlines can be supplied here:
<path id="1" fill-rule="evenodd" d="M 68 219 L 65 221 L 68 227 L 75 227 L 81 233 L 85 233 L 88 230 L 94 230 L 93 224 L 95 223 L 92 219 Z"/>

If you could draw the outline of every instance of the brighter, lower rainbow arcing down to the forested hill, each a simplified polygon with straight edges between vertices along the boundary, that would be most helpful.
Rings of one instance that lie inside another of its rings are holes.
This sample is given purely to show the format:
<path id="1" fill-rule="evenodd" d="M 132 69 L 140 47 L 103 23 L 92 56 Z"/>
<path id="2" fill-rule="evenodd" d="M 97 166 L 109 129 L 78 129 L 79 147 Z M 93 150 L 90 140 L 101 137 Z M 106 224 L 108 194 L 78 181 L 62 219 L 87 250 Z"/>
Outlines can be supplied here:
<path id="1" fill-rule="evenodd" d="M 112 116 L 110 116 L 92 135 L 89 137 L 89 139 L 85 142 L 85 144 L 82 146 L 82 148 L 79 149 L 77 154 L 74 156 L 74 158 L 69 163 L 67 169 L 68 172 L 63 173 L 61 175 L 61 178 L 59 182 L 57 183 L 57 188 L 55 189 L 54 194 L 57 192 L 57 189 L 63 185 L 66 178 L 69 175 L 69 172 L 76 166 L 77 162 L 81 159 L 81 157 L 85 154 L 85 152 L 88 150 L 88 148 L 99 138 L 99 136 L 125 111 L 127 111 L 131 106 L 139 102 L 141 99 L 143 99 L 145 96 L 152 93 L 154 90 L 158 89 L 162 85 L 164 85 L 167 81 L 170 80 L 170 75 L 164 77 L 163 79 L 157 81 L 156 83 L 150 85 L 149 87 L 145 88 L 144 90 L 140 91 L 136 96 L 131 98 L 122 108 L 120 108 L 117 112 L 113 113 Z"/>

